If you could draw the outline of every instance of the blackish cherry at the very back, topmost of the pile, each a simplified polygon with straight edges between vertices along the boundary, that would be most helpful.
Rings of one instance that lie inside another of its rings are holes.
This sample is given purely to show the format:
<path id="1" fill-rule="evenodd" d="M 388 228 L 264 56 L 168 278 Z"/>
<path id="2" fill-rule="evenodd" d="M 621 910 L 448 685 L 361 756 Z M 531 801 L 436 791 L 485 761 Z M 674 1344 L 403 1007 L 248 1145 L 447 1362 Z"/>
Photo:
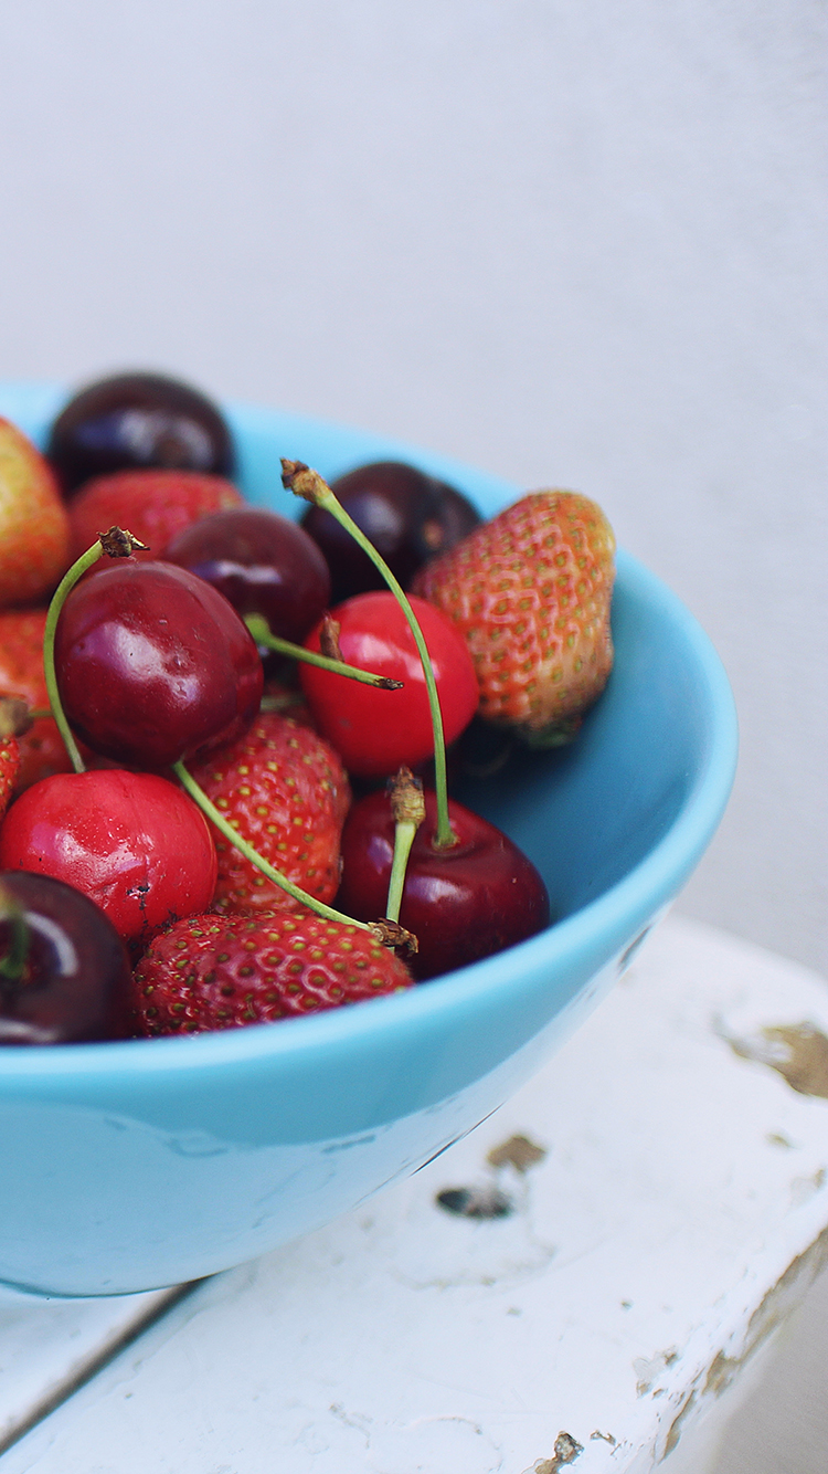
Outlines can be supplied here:
<path id="1" fill-rule="evenodd" d="M 75 394 L 52 426 L 46 455 L 65 495 L 91 476 L 164 466 L 233 476 L 230 429 L 199 389 L 158 373 L 122 373 Z"/>

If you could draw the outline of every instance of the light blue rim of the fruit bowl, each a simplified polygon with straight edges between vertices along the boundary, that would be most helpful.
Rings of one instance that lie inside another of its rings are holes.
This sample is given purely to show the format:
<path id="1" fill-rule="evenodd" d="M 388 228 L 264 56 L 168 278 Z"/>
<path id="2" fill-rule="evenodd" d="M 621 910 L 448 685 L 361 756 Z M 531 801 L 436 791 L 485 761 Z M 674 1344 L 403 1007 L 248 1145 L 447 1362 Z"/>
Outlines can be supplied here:
<path id="1" fill-rule="evenodd" d="M 41 416 L 50 401 L 59 402 L 65 394 L 53 383 L 0 385 L 0 413 L 4 399 L 21 397 L 31 405 L 31 414 Z M 380 435 L 371 435 L 334 422 L 268 410 L 230 401 L 222 405 L 233 420 L 261 423 L 284 420 L 308 433 L 349 438 L 354 445 L 370 448 L 374 458 L 415 458 L 432 473 L 485 486 L 491 495 L 507 504 L 508 497 L 520 497 L 523 488 L 495 478 L 463 461 L 430 454 Z M 25 426 L 24 426 L 25 429 Z M 469 1002 L 508 989 L 526 973 L 554 974 L 564 958 L 592 955 L 597 948 L 608 961 L 631 933 L 650 924 L 684 884 L 712 839 L 725 811 L 737 766 L 738 728 L 734 696 L 722 662 L 698 621 L 676 594 L 638 559 L 623 548 L 617 551 L 617 582 L 631 593 L 656 603 L 673 622 L 707 687 L 706 752 L 698 772 L 667 833 L 619 881 L 586 905 L 504 952 L 457 968 L 429 983 L 392 996 L 368 999 L 346 1008 L 326 1010 L 302 1019 L 283 1019 L 277 1024 L 249 1024 L 215 1033 L 171 1036 L 159 1039 L 118 1039 L 94 1044 L 31 1045 L 25 1049 L 0 1045 L 0 1089 L 4 1082 L 49 1076 L 94 1077 L 116 1072 L 133 1076 L 189 1073 L 194 1069 L 222 1067 L 255 1060 L 296 1058 L 320 1049 L 339 1049 L 352 1039 L 382 1038 L 399 1029 L 415 1026 L 432 1016 L 446 1017 L 466 1011 Z M 603 942 L 600 942 L 603 939 Z M 147 1045 L 152 1045 L 147 1048 Z"/>

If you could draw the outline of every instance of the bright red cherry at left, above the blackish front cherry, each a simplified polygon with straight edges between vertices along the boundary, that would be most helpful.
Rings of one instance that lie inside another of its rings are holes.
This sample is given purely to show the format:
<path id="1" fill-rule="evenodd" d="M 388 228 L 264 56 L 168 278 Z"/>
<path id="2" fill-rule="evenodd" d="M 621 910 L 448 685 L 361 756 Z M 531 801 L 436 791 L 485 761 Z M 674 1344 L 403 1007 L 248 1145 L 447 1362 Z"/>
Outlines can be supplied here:
<path id="1" fill-rule="evenodd" d="M 0 828 L 0 868 L 63 880 L 131 945 L 206 911 L 217 855 L 203 814 L 166 778 L 103 768 L 41 778 Z"/>

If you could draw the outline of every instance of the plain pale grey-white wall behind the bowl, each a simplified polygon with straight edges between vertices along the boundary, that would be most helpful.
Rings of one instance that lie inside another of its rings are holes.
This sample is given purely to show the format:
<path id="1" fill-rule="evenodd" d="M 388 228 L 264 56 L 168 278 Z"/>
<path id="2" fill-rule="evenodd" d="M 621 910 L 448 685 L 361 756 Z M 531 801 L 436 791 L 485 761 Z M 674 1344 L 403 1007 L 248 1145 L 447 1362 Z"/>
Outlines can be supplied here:
<path id="1" fill-rule="evenodd" d="M 827 31 L 822 0 L 7 0 L 0 55 L 0 377 L 158 367 L 594 495 L 741 713 L 682 905 L 818 967 Z"/>

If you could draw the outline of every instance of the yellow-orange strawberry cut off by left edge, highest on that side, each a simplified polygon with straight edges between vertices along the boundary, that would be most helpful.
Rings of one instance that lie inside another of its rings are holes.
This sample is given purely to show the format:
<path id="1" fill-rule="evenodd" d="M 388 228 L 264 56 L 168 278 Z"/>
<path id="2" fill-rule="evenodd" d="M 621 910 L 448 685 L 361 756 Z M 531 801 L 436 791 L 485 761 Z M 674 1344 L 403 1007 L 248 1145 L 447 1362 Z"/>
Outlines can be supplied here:
<path id="1" fill-rule="evenodd" d="M 69 519 L 52 467 L 0 419 L 0 609 L 49 594 L 69 565 Z"/>

